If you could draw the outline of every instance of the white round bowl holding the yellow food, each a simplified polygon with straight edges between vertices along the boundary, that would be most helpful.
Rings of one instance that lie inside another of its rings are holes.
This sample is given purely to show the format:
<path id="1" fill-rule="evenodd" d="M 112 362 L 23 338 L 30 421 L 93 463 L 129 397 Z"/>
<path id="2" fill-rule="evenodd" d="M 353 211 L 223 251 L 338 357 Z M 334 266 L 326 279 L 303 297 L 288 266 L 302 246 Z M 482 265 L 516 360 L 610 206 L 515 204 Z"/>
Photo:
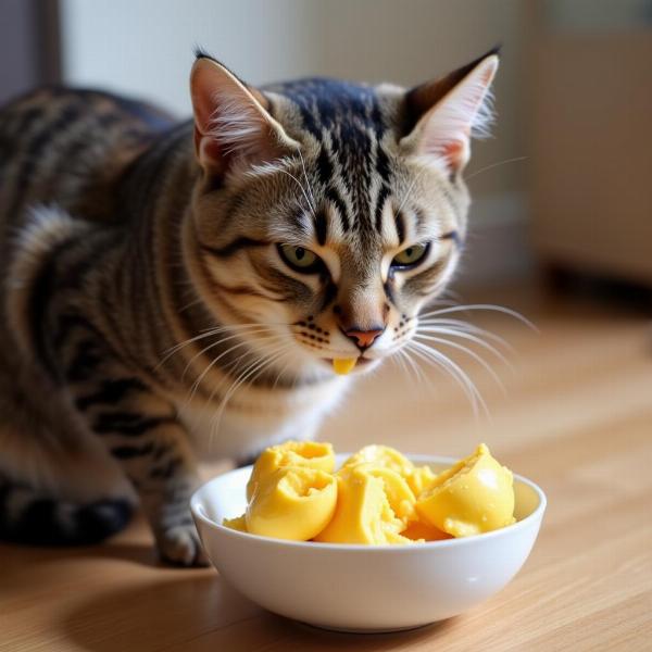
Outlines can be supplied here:
<path id="1" fill-rule="evenodd" d="M 338 455 L 341 463 L 348 455 Z M 409 455 L 434 471 L 455 460 Z M 285 541 L 224 527 L 244 512 L 251 466 L 206 482 L 190 506 L 220 574 L 271 612 L 318 627 L 390 631 L 455 616 L 502 589 L 530 553 L 546 496 L 514 476 L 516 523 L 500 530 L 412 546 Z"/>

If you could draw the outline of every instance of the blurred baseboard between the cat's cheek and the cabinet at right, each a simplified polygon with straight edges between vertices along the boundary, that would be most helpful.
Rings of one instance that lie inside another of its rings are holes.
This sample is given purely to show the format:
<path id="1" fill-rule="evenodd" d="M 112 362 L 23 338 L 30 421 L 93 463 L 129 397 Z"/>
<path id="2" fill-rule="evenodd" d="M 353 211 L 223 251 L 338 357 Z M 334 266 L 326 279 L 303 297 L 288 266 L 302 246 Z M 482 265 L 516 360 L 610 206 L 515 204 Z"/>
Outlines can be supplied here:
<path id="1" fill-rule="evenodd" d="M 474 201 L 455 285 L 482 286 L 521 279 L 534 273 L 524 192 Z"/>

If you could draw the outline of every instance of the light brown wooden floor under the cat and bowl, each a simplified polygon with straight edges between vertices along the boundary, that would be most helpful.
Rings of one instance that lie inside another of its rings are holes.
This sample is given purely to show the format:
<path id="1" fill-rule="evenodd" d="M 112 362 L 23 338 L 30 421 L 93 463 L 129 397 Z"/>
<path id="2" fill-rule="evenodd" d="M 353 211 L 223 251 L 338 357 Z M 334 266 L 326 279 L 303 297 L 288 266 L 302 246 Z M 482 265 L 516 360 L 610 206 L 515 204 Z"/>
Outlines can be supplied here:
<path id="1" fill-rule="evenodd" d="M 513 372 L 497 366 L 505 397 L 465 365 L 491 421 L 475 421 L 449 379 L 432 373 L 419 387 L 389 365 L 360 385 L 323 438 L 340 450 L 384 442 L 453 455 L 486 441 L 539 482 L 549 497 L 541 535 L 499 595 L 411 632 L 328 634 L 263 612 L 213 569 L 156 566 L 137 521 L 97 548 L 0 547 L 0 650 L 652 650 L 650 313 L 524 290 L 479 298 L 517 308 L 541 330 L 474 318 L 516 350 Z"/>

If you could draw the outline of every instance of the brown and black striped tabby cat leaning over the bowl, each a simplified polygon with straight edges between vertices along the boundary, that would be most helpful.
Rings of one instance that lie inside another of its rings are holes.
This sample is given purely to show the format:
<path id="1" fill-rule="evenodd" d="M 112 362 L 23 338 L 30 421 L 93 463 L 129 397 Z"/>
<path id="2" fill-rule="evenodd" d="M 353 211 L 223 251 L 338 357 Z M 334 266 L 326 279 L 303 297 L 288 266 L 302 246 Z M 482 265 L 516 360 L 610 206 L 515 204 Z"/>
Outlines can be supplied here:
<path id="1" fill-rule="evenodd" d="M 313 437 L 450 280 L 498 62 L 258 89 L 198 52 L 189 122 L 65 88 L 3 108 L 0 539 L 101 541 L 139 501 L 164 561 L 204 564 L 196 460 Z"/>

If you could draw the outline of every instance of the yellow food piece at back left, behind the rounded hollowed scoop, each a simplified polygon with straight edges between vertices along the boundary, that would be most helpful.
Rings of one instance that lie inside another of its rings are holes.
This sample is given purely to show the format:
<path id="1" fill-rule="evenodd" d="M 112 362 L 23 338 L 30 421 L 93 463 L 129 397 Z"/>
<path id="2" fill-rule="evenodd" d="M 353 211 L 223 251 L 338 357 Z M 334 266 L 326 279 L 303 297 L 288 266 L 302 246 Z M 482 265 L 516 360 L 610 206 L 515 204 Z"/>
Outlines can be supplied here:
<path id="1" fill-rule="evenodd" d="M 265 449 L 255 461 L 247 482 L 247 500 L 266 476 L 284 466 L 306 466 L 325 473 L 335 469 L 335 453 L 330 443 L 317 441 L 286 441 Z"/>

